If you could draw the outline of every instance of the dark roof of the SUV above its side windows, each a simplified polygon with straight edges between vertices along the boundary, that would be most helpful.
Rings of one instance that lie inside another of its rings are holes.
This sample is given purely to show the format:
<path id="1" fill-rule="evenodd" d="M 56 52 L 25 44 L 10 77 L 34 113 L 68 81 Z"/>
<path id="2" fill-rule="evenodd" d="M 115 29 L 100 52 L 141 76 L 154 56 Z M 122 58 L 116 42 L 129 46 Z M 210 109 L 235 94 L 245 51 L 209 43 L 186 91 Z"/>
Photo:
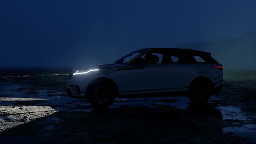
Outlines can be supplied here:
<path id="1" fill-rule="evenodd" d="M 149 49 L 152 49 L 152 50 L 159 50 L 159 51 L 162 51 L 162 52 L 177 52 L 177 53 L 187 53 L 187 54 L 190 54 L 190 55 L 210 55 L 211 53 L 210 52 L 203 52 L 203 51 L 200 51 L 200 50 L 194 50 L 194 49 L 181 49 L 181 48 L 145 48 L 145 49 L 141 49 L 141 50 L 149 50 Z"/>

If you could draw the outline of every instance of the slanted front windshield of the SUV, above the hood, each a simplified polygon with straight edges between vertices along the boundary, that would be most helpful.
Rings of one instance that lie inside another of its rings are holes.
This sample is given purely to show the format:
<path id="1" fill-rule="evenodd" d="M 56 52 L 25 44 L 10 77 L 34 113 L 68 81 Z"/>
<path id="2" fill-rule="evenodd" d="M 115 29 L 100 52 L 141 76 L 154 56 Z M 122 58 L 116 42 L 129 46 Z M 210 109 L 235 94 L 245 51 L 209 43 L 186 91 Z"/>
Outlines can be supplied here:
<path id="1" fill-rule="evenodd" d="M 135 50 L 133 52 L 128 53 L 127 55 L 123 56 L 121 59 L 118 59 L 114 63 L 116 64 L 124 64 L 126 65 L 128 62 L 130 62 L 132 59 L 140 55 L 141 53 L 145 52 L 148 49 L 139 49 Z"/>

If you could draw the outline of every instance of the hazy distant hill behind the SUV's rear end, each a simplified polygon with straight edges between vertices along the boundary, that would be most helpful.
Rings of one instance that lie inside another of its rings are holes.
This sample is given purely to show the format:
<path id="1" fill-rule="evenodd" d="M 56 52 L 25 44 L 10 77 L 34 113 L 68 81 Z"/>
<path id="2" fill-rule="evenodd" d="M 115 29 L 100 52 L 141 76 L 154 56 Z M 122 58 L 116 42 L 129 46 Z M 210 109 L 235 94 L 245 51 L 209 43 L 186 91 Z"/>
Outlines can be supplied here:
<path id="1" fill-rule="evenodd" d="M 211 52 L 225 69 L 256 69 L 256 32 L 213 42 L 190 42 L 177 47 Z"/>

